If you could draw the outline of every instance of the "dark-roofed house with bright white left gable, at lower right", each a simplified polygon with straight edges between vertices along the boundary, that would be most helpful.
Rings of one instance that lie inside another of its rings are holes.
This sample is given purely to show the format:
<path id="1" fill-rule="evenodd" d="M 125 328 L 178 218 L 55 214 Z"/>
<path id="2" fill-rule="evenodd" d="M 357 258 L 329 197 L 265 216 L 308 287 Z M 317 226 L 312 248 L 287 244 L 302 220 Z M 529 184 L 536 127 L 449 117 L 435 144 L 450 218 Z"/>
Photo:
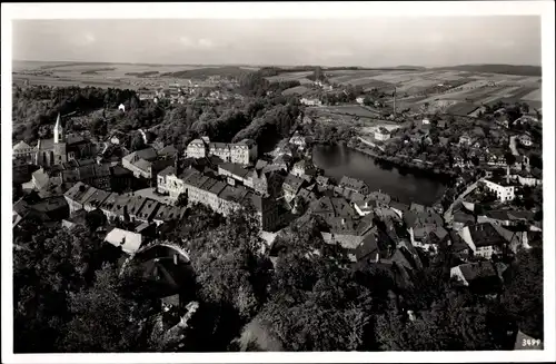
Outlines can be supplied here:
<path id="1" fill-rule="evenodd" d="M 459 232 L 461 239 L 469 246 L 475 256 L 490 259 L 502 254 L 506 239 L 489 223 L 466 226 Z"/>

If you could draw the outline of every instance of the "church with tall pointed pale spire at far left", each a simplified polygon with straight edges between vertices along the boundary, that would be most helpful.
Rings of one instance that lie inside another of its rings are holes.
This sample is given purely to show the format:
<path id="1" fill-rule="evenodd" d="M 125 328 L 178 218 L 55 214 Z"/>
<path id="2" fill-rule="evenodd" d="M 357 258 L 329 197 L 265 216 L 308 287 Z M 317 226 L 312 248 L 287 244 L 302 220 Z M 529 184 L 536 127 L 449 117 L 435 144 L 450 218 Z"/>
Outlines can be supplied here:
<path id="1" fill-rule="evenodd" d="M 56 119 L 53 138 L 39 139 L 34 163 L 39 166 L 49 167 L 60 165 L 71 159 L 82 159 L 95 155 L 96 146 L 80 136 L 66 136 L 63 125 L 58 114 Z"/>

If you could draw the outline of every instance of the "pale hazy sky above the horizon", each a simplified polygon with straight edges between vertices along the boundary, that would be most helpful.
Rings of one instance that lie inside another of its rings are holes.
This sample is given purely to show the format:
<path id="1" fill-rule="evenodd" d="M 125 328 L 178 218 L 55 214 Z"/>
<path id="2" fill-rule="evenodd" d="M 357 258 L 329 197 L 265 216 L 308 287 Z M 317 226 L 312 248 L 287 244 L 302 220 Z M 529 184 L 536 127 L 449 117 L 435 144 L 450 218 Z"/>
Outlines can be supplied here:
<path id="1" fill-rule="evenodd" d="M 13 59 L 254 66 L 540 66 L 540 17 L 14 20 Z"/>

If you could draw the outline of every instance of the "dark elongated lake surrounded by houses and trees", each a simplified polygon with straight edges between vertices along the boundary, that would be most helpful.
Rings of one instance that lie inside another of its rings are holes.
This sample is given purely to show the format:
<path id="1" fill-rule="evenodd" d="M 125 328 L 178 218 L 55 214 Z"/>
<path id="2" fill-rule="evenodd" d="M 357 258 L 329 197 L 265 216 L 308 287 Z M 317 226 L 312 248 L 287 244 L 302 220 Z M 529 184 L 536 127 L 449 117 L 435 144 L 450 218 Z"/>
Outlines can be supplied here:
<path id="1" fill-rule="evenodd" d="M 327 176 L 339 180 L 349 176 L 365 180 L 371 190 L 384 190 L 403 203 L 433 205 L 443 195 L 443 183 L 427 176 L 415 176 L 398 168 L 379 166 L 375 159 L 346 146 L 316 146 L 312 150 L 315 164 L 325 169 Z"/>

